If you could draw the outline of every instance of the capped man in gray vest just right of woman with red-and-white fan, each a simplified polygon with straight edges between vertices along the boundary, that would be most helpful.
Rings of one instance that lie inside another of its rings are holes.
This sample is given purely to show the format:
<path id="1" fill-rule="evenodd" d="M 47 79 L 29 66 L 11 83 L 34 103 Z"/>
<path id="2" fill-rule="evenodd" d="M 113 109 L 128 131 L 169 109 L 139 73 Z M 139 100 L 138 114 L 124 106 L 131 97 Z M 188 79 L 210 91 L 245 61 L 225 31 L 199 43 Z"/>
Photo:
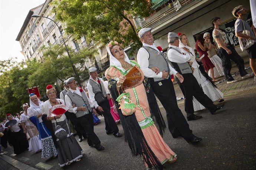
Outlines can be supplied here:
<path id="1" fill-rule="evenodd" d="M 97 150 L 103 150 L 101 141 L 93 131 L 92 111 L 95 110 L 91 100 L 87 97 L 85 91 L 79 90 L 74 77 L 66 80 L 69 91 L 65 94 L 65 103 L 69 108 L 69 112 L 75 113 L 76 118 L 81 123 L 83 130 L 88 135 L 88 145 L 95 147 Z M 75 105 L 75 107 L 73 107 Z"/>

